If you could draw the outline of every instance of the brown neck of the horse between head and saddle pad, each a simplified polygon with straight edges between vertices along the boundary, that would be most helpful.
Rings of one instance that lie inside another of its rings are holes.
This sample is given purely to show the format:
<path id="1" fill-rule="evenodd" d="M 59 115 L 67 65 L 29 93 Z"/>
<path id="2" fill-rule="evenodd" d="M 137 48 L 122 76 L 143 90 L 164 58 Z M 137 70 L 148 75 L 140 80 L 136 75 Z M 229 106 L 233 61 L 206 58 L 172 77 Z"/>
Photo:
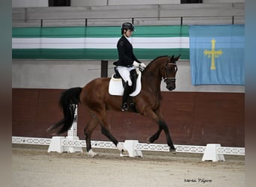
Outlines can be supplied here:
<path id="1" fill-rule="evenodd" d="M 143 73 L 143 82 L 147 85 L 150 91 L 156 93 L 156 95 L 160 92 L 160 85 L 162 81 L 162 76 L 160 74 L 159 68 L 161 67 L 161 61 L 155 61 L 150 64 L 150 67 Z"/>

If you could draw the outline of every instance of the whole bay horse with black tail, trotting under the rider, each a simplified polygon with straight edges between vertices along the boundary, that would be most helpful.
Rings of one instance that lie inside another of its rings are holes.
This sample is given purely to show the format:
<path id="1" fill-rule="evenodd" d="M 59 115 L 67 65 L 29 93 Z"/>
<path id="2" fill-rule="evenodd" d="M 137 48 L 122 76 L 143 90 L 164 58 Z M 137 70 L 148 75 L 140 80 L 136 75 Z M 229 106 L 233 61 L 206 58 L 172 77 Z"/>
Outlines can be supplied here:
<path id="1" fill-rule="evenodd" d="M 153 120 L 158 129 L 150 138 L 147 138 L 147 143 L 153 143 L 159 138 L 162 130 L 165 132 L 165 137 L 170 151 L 174 151 L 175 147 L 171 140 L 171 135 L 168 126 L 163 120 L 160 111 L 162 95 L 160 85 L 162 79 L 169 91 L 175 89 L 175 76 L 177 73 L 176 61 L 180 59 L 180 55 L 174 57 L 159 56 L 155 58 L 144 69 L 141 75 L 141 92 L 137 96 L 132 96 L 135 102 L 135 109 L 138 114 Z M 91 120 L 85 126 L 85 141 L 86 150 L 89 156 L 97 156 L 97 153 L 91 149 L 91 134 L 98 124 L 101 126 L 101 132 L 106 135 L 122 153 L 127 151 L 124 146 L 118 143 L 118 140 L 109 131 L 106 111 L 115 110 L 121 111 L 122 96 L 112 96 L 109 94 L 110 78 L 97 78 L 85 85 L 84 88 L 70 88 L 61 94 L 59 105 L 63 111 L 64 118 L 55 125 L 50 126 L 48 132 L 55 131 L 57 134 L 67 132 L 73 124 L 75 107 L 81 103 L 88 109 L 91 114 Z"/>

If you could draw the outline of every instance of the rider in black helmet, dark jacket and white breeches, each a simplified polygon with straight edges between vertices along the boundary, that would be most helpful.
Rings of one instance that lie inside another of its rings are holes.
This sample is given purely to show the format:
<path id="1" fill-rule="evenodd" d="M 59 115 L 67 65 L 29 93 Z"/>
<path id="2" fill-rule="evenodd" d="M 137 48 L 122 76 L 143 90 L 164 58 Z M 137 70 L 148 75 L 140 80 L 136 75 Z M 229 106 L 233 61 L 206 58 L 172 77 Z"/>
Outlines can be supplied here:
<path id="1" fill-rule="evenodd" d="M 132 81 L 129 77 L 130 70 L 140 67 L 142 70 L 146 67 L 144 63 L 138 61 L 132 51 L 132 43 L 129 42 L 129 37 L 132 36 L 132 31 L 135 31 L 134 26 L 130 22 L 124 22 L 121 28 L 122 37 L 118 40 L 118 56 L 119 60 L 113 64 L 117 66 L 118 73 L 126 82 L 124 86 L 124 95 L 122 99 L 122 111 L 128 110 L 127 100 L 132 87 Z"/>

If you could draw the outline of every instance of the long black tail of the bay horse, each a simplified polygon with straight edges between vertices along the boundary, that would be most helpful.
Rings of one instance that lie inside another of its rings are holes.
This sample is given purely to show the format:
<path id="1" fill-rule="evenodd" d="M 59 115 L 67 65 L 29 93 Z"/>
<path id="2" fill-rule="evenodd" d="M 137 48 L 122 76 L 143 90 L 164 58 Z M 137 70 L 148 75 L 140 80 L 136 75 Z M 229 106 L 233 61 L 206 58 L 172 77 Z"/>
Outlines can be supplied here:
<path id="1" fill-rule="evenodd" d="M 58 123 L 50 126 L 47 129 L 48 132 L 53 132 L 56 130 L 57 134 L 62 134 L 70 129 L 74 120 L 74 114 L 76 110 L 75 105 L 78 105 L 80 102 L 79 95 L 81 92 L 82 88 L 76 87 L 70 88 L 61 94 L 59 106 L 63 111 L 64 118 L 58 121 Z"/>

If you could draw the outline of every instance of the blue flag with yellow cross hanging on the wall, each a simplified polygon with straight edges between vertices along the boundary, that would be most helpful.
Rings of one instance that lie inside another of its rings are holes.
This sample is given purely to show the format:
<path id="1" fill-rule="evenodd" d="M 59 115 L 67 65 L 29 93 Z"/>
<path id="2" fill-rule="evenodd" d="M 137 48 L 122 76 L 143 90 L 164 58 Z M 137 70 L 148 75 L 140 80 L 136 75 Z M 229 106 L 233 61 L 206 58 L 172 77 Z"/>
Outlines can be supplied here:
<path id="1" fill-rule="evenodd" d="M 245 26 L 189 26 L 192 85 L 245 85 Z"/>

